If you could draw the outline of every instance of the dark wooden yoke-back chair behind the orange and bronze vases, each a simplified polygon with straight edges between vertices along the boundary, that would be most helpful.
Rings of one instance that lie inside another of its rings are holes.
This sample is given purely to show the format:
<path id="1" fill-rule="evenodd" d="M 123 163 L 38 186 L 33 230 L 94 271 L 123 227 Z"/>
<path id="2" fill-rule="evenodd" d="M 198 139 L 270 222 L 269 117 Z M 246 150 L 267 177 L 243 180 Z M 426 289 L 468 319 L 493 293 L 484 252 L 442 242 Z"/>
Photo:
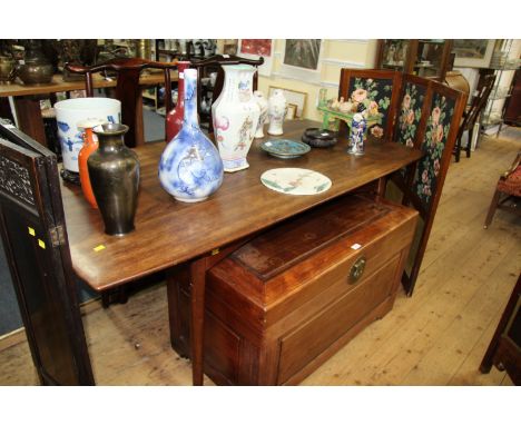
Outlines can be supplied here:
<path id="1" fill-rule="evenodd" d="M 139 87 L 139 75 L 144 69 L 160 69 L 165 73 L 165 110 L 171 109 L 170 93 L 170 69 L 177 69 L 177 61 L 171 63 L 154 62 L 139 58 L 112 59 L 105 63 L 92 67 L 83 67 L 66 63 L 65 68 L 73 73 L 82 73 L 86 77 L 86 91 L 88 97 L 94 97 L 92 73 L 116 71 L 118 82 L 116 86 L 116 98 L 121 101 L 121 122 L 129 126 L 125 135 L 125 144 L 135 148 L 145 142 L 142 127 L 141 89 Z M 166 132 L 165 132 L 166 138 Z"/>

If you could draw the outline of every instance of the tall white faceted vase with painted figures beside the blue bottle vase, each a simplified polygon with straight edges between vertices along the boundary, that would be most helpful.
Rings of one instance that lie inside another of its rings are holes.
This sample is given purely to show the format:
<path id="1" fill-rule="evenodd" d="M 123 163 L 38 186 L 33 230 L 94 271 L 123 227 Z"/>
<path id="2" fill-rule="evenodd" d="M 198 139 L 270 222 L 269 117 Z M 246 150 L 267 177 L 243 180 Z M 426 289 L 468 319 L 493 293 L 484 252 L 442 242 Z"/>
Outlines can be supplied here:
<path id="1" fill-rule="evenodd" d="M 212 106 L 215 139 L 224 170 L 234 172 L 249 167 L 246 156 L 257 130 L 260 108 L 253 96 L 250 65 L 223 66 L 225 82 Z"/>

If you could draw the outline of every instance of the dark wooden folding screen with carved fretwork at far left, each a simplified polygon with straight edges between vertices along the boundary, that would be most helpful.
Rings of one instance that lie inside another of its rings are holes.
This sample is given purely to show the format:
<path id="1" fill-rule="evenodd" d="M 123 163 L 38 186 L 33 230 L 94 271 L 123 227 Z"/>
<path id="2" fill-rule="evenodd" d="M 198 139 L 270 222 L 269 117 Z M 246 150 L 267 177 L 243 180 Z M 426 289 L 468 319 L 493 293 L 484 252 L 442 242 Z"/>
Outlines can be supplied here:
<path id="1" fill-rule="evenodd" d="M 42 385 L 94 385 L 56 156 L 0 123 L 0 234 Z"/>

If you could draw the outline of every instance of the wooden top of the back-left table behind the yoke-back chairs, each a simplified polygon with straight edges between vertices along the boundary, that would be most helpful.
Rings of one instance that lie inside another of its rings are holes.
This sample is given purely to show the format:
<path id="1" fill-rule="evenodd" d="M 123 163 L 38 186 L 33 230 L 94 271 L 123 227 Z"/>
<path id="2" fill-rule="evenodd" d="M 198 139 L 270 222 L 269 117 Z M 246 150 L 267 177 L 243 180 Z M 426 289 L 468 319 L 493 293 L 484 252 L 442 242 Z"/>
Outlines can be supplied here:
<path id="1" fill-rule="evenodd" d="M 170 71 L 171 81 L 177 81 L 177 71 Z M 155 86 L 165 82 L 165 75 L 163 71 L 146 73 L 141 72 L 139 85 Z M 110 80 L 105 79 L 100 73 L 92 75 L 92 83 L 95 88 L 116 87 L 116 78 Z M 48 95 L 58 91 L 83 90 L 85 79 L 78 81 L 63 81 L 63 76 L 57 73 L 52 77 L 52 81 L 46 85 L 23 85 L 23 83 L 8 83 L 0 85 L 0 97 L 6 96 L 30 96 L 30 95 Z"/>

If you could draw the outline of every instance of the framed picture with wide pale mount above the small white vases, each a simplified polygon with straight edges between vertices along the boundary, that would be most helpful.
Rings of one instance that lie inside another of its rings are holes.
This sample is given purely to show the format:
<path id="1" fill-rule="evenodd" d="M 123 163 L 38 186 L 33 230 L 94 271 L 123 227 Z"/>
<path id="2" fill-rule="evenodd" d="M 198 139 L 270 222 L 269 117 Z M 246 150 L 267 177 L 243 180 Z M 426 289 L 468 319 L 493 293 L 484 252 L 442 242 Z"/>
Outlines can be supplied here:
<path id="1" fill-rule="evenodd" d="M 287 39 L 283 41 L 281 75 L 296 80 L 320 82 L 323 40 Z"/>

